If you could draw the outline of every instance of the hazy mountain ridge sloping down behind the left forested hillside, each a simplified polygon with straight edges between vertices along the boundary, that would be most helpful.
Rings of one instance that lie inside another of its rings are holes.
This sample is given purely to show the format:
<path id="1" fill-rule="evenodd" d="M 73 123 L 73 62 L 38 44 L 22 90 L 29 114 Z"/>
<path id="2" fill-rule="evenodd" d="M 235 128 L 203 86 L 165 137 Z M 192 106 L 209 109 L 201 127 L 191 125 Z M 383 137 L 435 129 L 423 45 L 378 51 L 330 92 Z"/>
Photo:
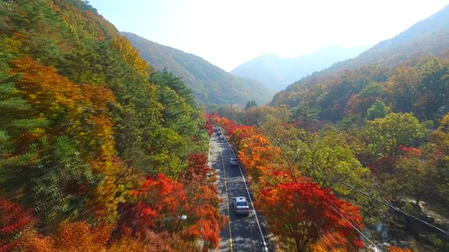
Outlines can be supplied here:
<path id="1" fill-rule="evenodd" d="M 182 50 L 154 43 L 130 32 L 121 32 L 140 52 L 140 56 L 161 71 L 167 69 L 176 76 L 182 76 L 186 85 L 192 88 L 196 102 L 208 104 L 239 104 L 248 101 L 267 104 L 274 91 L 255 80 L 245 80 L 210 64 L 205 59 Z"/>

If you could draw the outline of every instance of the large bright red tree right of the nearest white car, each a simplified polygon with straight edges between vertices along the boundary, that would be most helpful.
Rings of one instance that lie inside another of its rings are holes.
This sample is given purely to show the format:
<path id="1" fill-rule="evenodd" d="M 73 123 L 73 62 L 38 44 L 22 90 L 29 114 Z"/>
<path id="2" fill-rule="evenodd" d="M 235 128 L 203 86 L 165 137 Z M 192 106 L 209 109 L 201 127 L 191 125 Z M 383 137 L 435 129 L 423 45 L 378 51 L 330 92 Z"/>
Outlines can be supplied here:
<path id="1" fill-rule="evenodd" d="M 322 230 L 339 232 L 351 246 L 363 242 L 353 225 L 363 228 L 358 207 L 338 200 L 328 188 L 319 188 L 308 179 L 279 183 L 260 192 L 264 200 L 257 207 L 267 216 L 270 230 L 283 244 L 295 241 L 298 252 L 307 251 L 321 238 Z M 349 223 L 351 222 L 351 223 Z"/>

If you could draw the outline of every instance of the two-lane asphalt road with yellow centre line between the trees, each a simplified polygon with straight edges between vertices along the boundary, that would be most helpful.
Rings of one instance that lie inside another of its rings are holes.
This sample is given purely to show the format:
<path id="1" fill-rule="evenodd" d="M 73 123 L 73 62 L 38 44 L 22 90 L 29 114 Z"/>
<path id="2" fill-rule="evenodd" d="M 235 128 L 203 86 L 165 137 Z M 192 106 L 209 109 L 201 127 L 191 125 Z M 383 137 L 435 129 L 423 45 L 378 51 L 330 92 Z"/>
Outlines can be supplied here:
<path id="1" fill-rule="evenodd" d="M 234 157 L 227 139 L 218 140 L 214 133 L 210 140 L 209 165 L 217 171 L 218 192 L 222 199 L 220 214 L 229 218 L 225 229 L 220 232 L 220 248 L 217 251 L 272 251 L 267 244 L 266 232 L 261 220 L 255 214 L 253 206 L 250 206 L 251 211 L 248 216 L 234 213 L 234 204 L 232 204 L 234 197 L 246 197 L 250 203 L 253 200 L 253 197 L 249 195 L 250 191 L 241 167 L 229 166 L 229 158 Z"/>

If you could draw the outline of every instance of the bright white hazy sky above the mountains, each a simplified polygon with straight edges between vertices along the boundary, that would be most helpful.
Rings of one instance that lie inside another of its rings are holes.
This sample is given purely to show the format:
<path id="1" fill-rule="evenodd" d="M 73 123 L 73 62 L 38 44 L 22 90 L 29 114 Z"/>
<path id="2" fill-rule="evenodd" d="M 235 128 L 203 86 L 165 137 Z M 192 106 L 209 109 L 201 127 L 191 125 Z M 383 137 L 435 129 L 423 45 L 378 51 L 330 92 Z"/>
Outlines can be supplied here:
<path id="1" fill-rule="evenodd" d="M 231 71 L 263 53 L 375 45 L 449 0 L 89 0 L 119 31 L 192 53 Z"/>

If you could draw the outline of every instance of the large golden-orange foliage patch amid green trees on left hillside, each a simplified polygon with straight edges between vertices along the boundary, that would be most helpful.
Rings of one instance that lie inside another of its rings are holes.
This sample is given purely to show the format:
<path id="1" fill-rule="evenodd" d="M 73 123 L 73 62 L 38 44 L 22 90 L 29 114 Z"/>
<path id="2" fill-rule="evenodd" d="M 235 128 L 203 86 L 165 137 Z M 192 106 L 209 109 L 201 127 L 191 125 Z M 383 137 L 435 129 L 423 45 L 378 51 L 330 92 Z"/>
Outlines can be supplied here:
<path id="1" fill-rule="evenodd" d="M 91 196 L 95 198 L 92 209 L 98 216 L 114 216 L 114 180 L 124 169 L 114 162 L 116 151 L 111 137 L 114 122 L 107 114 L 107 103 L 115 103 L 114 94 L 104 87 L 73 83 L 60 76 L 52 66 L 43 66 L 29 58 L 15 59 L 13 63 L 13 73 L 22 73 L 17 87 L 36 111 L 32 116 L 50 121 L 59 119 L 41 132 L 48 136 L 67 134 L 79 143 L 86 143 L 81 148 L 81 157 L 91 162 L 96 174 L 106 178 Z M 26 132 L 16 142 L 28 146 L 39 137 L 42 134 Z"/>

